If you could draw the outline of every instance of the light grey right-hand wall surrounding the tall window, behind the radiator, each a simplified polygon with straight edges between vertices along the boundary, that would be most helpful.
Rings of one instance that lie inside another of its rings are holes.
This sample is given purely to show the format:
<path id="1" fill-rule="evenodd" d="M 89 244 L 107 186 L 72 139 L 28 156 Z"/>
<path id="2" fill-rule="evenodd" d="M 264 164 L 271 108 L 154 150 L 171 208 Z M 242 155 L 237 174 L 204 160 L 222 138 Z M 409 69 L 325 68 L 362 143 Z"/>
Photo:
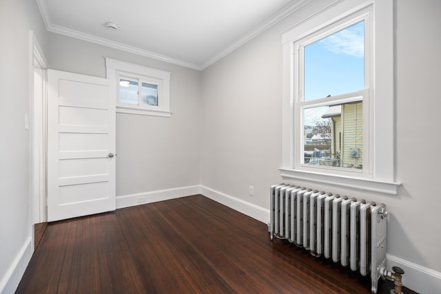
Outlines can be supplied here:
<path id="1" fill-rule="evenodd" d="M 327 3 L 311 1 L 203 71 L 201 185 L 219 198 L 269 209 L 269 185 L 281 182 L 280 33 Z M 403 183 L 398 196 L 298 183 L 386 203 L 389 269 L 402 266 L 404 285 L 420 293 L 441 293 L 441 158 L 433 155 L 441 143 L 441 1 L 395 4 L 396 169 Z M 249 185 L 254 197 L 248 196 Z"/>

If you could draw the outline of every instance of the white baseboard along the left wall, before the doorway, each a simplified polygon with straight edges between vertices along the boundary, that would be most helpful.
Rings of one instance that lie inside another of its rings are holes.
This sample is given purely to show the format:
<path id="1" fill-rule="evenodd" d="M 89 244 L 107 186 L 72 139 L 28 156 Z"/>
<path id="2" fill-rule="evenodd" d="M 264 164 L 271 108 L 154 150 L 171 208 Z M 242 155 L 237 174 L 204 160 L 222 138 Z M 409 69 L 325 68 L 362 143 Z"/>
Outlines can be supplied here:
<path id="1" fill-rule="evenodd" d="M 32 238 L 29 237 L 0 281 L 1 294 L 10 294 L 17 290 L 21 277 L 23 277 L 30 258 L 32 257 L 32 252 Z"/>

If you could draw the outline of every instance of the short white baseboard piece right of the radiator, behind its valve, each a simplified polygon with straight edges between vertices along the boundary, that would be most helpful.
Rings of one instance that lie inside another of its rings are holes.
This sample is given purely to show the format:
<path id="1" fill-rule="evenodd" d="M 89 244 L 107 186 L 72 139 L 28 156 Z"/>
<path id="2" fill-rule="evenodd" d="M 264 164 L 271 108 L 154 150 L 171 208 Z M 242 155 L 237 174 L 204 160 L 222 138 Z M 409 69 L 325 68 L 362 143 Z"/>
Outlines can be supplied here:
<path id="1" fill-rule="evenodd" d="M 433 271 L 390 254 L 387 254 L 386 258 L 388 271 L 392 271 L 392 266 L 400 266 L 403 269 L 402 284 L 406 288 L 420 294 L 441 294 L 441 273 L 439 271 Z"/>

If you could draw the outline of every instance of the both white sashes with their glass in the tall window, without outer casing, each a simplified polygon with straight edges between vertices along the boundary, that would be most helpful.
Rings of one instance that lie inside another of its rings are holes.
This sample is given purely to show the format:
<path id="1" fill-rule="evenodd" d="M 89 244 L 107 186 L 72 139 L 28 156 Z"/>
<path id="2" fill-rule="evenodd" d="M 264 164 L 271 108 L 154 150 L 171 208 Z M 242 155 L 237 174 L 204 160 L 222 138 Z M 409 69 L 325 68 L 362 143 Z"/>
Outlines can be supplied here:
<path id="1" fill-rule="evenodd" d="M 368 16 L 343 19 L 294 42 L 295 168 L 371 170 L 369 115 L 363 116 L 371 87 Z"/>

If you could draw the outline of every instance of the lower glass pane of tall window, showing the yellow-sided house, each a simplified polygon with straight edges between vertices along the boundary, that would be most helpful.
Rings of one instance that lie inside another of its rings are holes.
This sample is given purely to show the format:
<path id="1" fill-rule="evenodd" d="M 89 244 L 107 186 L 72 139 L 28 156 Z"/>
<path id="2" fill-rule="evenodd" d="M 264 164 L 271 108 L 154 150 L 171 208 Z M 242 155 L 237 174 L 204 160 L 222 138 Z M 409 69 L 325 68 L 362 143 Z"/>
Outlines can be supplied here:
<path id="1" fill-rule="evenodd" d="M 303 163 L 362 169 L 362 102 L 303 112 Z"/>

